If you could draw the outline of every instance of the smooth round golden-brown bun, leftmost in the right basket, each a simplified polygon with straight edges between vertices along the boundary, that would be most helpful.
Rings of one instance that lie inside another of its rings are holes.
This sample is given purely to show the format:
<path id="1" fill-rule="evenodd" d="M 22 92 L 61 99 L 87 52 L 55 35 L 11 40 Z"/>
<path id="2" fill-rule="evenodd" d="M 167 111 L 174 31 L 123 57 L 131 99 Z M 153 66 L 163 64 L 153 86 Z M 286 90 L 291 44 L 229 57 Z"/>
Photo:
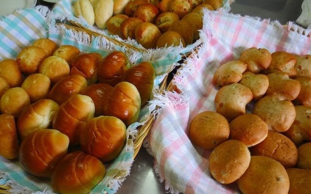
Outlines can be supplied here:
<path id="1" fill-rule="evenodd" d="M 219 113 L 205 111 L 198 113 L 190 122 L 189 138 L 199 147 L 210 149 L 226 141 L 229 137 L 229 123 Z"/>

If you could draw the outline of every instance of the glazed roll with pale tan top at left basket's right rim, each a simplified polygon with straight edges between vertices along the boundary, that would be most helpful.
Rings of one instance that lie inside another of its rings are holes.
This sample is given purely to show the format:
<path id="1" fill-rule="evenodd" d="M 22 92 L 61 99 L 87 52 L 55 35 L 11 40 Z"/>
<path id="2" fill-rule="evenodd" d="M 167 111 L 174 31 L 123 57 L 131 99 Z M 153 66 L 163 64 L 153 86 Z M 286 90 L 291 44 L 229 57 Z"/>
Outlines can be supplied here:
<path id="1" fill-rule="evenodd" d="M 126 126 L 138 119 L 140 111 L 140 95 L 132 83 L 122 81 L 118 83 L 107 98 L 104 115 L 121 119 Z"/>

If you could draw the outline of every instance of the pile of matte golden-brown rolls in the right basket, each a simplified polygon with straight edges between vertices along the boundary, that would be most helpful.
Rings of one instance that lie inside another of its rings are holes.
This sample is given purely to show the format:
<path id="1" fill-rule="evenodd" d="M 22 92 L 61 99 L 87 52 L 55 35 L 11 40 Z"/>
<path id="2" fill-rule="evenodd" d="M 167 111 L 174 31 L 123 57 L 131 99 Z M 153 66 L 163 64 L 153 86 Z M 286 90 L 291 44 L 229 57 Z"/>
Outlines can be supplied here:
<path id="1" fill-rule="evenodd" d="M 311 56 L 245 49 L 213 83 L 216 112 L 189 128 L 194 145 L 213 149 L 211 176 L 243 194 L 311 193 Z"/>

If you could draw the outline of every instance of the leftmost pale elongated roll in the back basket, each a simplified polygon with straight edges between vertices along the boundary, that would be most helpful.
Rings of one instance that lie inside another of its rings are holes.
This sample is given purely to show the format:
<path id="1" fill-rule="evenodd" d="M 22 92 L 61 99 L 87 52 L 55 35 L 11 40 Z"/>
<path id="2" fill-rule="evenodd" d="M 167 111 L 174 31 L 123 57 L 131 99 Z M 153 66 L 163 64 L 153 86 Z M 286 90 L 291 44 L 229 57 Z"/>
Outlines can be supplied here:
<path id="1" fill-rule="evenodd" d="M 76 17 L 82 16 L 89 25 L 94 25 L 95 14 L 92 3 L 89 0 L 77 0 L 74 2 L 73 8 Z"/>

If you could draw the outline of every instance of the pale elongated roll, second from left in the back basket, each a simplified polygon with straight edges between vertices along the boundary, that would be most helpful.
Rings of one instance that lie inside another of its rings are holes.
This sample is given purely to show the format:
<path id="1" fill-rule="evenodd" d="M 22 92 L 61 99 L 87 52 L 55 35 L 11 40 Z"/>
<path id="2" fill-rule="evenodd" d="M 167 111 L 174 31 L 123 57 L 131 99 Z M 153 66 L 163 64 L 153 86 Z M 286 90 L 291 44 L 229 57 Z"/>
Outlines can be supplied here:
<path id="1" fill-rule="evenodd" d="M 113 15 L 113 0 L 99 0 L 94 13 L 95 13 L 95 23 L 98 28 L 105 29 L 107 27 L 107 22 Z"/>

